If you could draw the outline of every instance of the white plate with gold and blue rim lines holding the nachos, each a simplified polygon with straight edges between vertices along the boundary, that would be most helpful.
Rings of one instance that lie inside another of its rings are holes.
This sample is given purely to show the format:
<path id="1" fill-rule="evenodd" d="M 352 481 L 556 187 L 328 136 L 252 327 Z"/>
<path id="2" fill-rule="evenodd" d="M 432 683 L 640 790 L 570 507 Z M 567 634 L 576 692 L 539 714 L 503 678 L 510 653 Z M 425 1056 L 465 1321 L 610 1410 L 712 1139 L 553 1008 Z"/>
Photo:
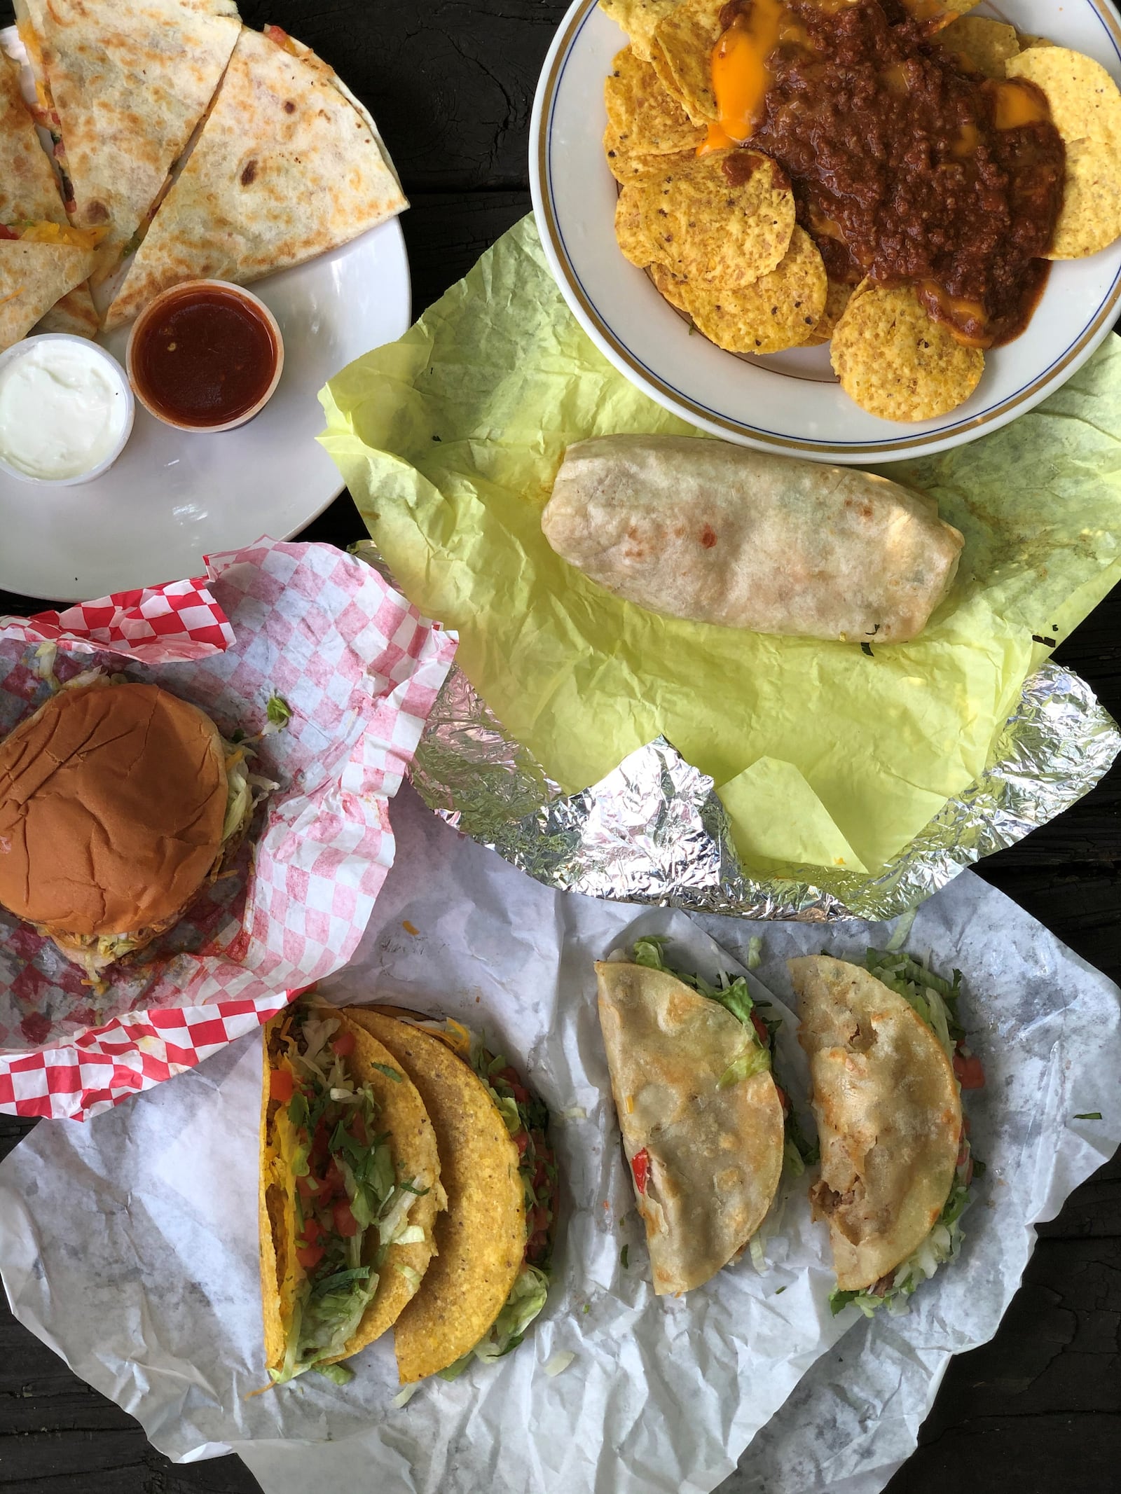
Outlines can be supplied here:
<path id="1" fill-rule="evenodd" d="M 979 13 L 1097 58 L 1121 81 L 1121 27 L 1108 0 L 1007 0 Z M 828 462 L 895 462 L 973 441 L 1057 388 L 1109 333 L 1121 300 L 1121 242 L 1054 264 L 1031 323 L 989 353 L 973 396 L 939 420 L 900 424 L 841 393 L 828 348 L 737 359 L 668 306 L 614 241 L 616 181 L 602 133 L 604 78 L 626 45 L 577 0 L 546 58 L 534 102 L 529 175 L 541 241 L 574 315 L 601 351 L 659 403 L 713 435 Z"/>

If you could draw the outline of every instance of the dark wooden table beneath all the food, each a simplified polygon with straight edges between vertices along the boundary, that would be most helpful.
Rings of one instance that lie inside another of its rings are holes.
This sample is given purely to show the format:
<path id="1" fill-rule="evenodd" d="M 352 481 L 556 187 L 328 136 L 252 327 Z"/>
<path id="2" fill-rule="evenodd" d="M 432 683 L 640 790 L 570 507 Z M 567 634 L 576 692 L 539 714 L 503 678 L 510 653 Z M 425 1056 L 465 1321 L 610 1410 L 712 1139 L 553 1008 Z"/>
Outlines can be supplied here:
<path id="1" fill-rule="evenodd" d="M 338 67 L 369 105 L 413 206 L 402 226 L 420 312 L 529 211 L 529 111 L 563 0 L 242 0 Z M 0 24 L 10 19 L 0 0 Z M 362 532 L 347 495 L 305 532 Z M 3 536 L 0 535 L 0 544 Z M 0 592 L 0 613 L 45 604 Z M 1121 714 L 1121 599 L 1058 650 Z M 1085 959 L 1121 979 L 1121 772 L 983 862 Z M 0 1155 L 30 1129 L 0 1116 Z M 955 1360 L 891 1494 L 1106 1494 L 1121 1487 L 1121 1162 L 1070 1198 L 1040 1240 L 997 1337 Z M 238 1458 L 176 1466 L 0 1309 L 0 1488 L 19 1494 L 250 1494 Z M 326 1491 L 333 1494 L 333 1491 Z M 484 1491 L 480 1491 L 484 1494 Z M 486 1491 L 489 1494 L 489 1491 Z M 495 1491 L 502 1494 L 502 1491 Z M 773 1494 L 800 1494 L 774 1490 Z"/>

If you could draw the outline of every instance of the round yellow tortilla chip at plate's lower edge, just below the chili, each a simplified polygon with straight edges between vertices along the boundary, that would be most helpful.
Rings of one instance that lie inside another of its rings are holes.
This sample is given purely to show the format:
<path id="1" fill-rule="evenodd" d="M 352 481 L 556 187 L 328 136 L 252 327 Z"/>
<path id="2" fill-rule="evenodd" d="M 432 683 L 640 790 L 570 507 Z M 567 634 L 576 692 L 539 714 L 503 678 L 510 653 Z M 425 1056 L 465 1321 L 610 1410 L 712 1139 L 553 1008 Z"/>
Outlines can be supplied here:
<path id="1" fill-rule="evenodd" d="M 840 385 L 882 420 L 933 420 L 969 399 L 985 371 L 981 348 L 963 347 L 927 315 L 910 285 L 861 282 L 833 333 Z"/>

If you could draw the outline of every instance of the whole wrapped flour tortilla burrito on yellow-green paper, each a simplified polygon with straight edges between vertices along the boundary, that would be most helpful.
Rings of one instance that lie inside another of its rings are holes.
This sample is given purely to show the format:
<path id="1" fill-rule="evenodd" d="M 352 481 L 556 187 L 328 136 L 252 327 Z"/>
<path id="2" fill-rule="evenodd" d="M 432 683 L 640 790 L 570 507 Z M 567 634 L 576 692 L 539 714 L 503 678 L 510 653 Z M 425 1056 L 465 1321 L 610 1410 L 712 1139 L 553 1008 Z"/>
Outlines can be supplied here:
<path id="1" fill-rule="evenodd" d="M 964 544 L 898 483 L 697 436 L 578 441 L 541 529 L 652 613 L 858 644 L 916 638 Z"/>

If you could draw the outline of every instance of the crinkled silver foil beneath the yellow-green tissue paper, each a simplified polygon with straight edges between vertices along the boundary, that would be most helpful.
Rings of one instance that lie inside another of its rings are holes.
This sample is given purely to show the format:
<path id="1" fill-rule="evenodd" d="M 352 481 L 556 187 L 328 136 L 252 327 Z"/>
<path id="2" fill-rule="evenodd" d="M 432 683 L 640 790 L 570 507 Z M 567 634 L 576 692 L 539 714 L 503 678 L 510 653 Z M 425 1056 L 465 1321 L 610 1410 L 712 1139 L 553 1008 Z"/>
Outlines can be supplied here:
<path id="1" fill-rule="evenodd" d="M 380 566 L 372 544 L 354 547 Z M 413 765 L 430 810 L 563 892 L 746 919 L 891 919 L 964 868 L 1052 820 L 1099 783 L 1121 731 L 1076 674 L 1049 662 L 1024 684 L 985 772 L 874 875 L 789 867 L 747 875 L 713 780 L 665 738 L 565 795 L 451 669 Z"/>

